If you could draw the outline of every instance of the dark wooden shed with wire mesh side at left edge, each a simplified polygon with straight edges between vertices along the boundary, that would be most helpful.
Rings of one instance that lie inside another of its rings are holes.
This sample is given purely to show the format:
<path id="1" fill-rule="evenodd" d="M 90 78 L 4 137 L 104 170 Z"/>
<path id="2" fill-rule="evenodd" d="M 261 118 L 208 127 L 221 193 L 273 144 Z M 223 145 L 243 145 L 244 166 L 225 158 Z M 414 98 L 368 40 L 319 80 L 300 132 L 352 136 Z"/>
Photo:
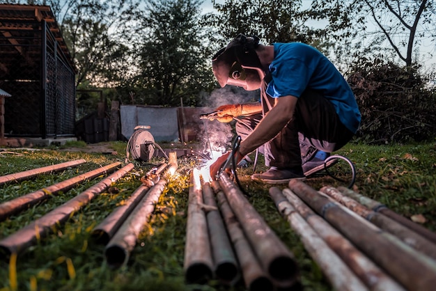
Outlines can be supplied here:
<path id="1" fill-rule="evenodd" d="M 0 4 L 6 137 L 74 136 L 75 69 L 49 6 Z"/>

